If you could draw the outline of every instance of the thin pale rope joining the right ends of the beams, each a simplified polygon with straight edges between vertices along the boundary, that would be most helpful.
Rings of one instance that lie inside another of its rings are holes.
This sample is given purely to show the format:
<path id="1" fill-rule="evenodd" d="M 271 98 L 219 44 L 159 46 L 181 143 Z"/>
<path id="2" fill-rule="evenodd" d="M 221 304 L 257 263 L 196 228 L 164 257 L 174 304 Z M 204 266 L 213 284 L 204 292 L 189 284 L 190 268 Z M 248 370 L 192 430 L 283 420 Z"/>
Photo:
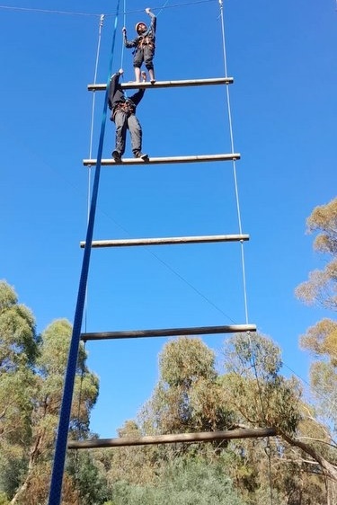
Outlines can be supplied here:
<path id="1" fill-rule="evenodd" d="M 221 31 L 222 31 L 222 46 L 223 46 L 223 57 L 224 57 L 224 69 L 225 69 L 225 77 L 227 77 L 227 58 L 226 58 L 226 38 L 225 38 L 224 5 L 223 5 L 223 0 L 218 0 L 218 2 L 219 2 L 219 5 L 220 5 L 220 18 L 221 18 Z M 231 105 L 230 105 L 229 86 L 226 86 L 226 104 L 227 104 L 227 113 L 228 113 L 229 134 L 230 134 L 231 149 L 232 149 L 232 154 L 234 154 L 235 153 L 235 149 L 234 149 L 234 135 L 233 135 L 233 122 L 232 122 L 232 112 L 231 112 Z M 237 186 L 235 160 L 233 161 L 233 174 L 234 174 L 234 182 L 235 182 L 236 212 L 237 212 L 239 233 L 241 235 L 242 234 L 242 224 L 241 224 L 240 201 L 239 201 L 239 191 L 238 191 L 238 186 Z M 248 323 L 247 289 L 246 289 L 246 278 L 245 278 L 244 243 L 243 242 L 241 242 L 241 263 L 242 263 L 243 286 L 244 286 L 244 314 L 245 314 L 245 323 Z"/>

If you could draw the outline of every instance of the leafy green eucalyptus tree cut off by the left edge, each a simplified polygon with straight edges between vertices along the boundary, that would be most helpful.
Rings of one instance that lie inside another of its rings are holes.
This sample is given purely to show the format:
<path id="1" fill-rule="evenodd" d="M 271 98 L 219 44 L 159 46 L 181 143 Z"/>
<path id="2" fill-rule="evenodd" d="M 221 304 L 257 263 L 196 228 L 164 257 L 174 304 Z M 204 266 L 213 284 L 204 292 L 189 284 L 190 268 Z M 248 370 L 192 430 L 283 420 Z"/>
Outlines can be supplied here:
<path id="1" fill-rule="evenodd" d="M 0 281 L 0 489 L 19 485 L 31 440 L 31 397 L 39 352 L 35 319 L 18 303 L 13 287 Z"/>

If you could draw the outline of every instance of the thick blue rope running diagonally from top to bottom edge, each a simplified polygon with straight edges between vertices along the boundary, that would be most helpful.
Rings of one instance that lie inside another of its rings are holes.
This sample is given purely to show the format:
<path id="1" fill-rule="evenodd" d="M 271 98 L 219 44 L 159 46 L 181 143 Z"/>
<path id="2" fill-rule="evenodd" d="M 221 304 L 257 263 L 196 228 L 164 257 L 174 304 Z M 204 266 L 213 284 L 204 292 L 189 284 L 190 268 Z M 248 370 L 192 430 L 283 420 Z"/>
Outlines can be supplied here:
<path id="1" fill-rule="evenodd" d="M 103 107 L 103 113 L 102 113 L 102 125 L 101 125 L 100 141 L 99 141 L 99 146 L 98 146 L 97 164 L 96 164 L 95 176 L 94 176 L 94 181 L 93 181 L 93 194 L 92 194 L 92 201 L 91 201 L 91 207 L 90 207 L 90 213 L 89 213 L 88 227 L 87 227 L 87 232 L 86 232 L 81 278 L 80 278 L 79 287 L 78 287 L 77 303 L 76 303 L 76 308 L 75 308 L 74 327 L 73 327 L 73 333 L 72 333 L 72 337 L 71 337 L 71 341 L 70 341 L 70 348 L 69 348 L 69 354 L 68 354 L 68 360 L 67 360 L 67 370 L 66 370 L 66 377 L 65 377 L 65 385 L 64 385 L 64 389 L 63 389 L 61 411 L 60 411 L 60 415 L 59 415 L 58 436 L 57 436 L 57 440 L 56 440 L 54 463 L 53 463 L 53 469 L 52 469 L 52 473 L 51 473 L 48 505 L 60 505 L 60 502 L 61 502 L 62 482 L 63 482 L 63 474 L 65 471 L 66 454 L 67 454 L 67 435 L 68 435 L 68 430 L 69 430 L 71 403 L 73 400 L 74 385 L 75 385 L 75 371 L 76 371 L 76 365 L 77 365 L 78 349 L 79 349 L 80 336 L 81 336 L 81 327 L 82 327 L 83 314 L 84 314 L 85 291 L 86 291 L 86 283 L 87 283 L 87 279 L 88 279 L 91 244 L 93 241 L 93 224 L 94 224 L 97 195 L 98 195 L 98 188 L 99 188 L 99 182 L 100 182 L 102 148 L 103 148 L 105 123 L 106 123 L 106 115 L 107 115 L 107 108 L 108 108 L 109 81 L 110 81 L 110 77 L 111 77 L 113 51 L 114 51 L 114 47 L 115 47 L 117 21 L 118 21 L 119 11 L 120 11 L 120 0 L 118 0 L 117 8 L 116 8 L 115 25 L 114 25 L 114 31 L 113 31 L 113 37 L 112 37 L 112 44 L 111 44 L 111 58 L 110 58 L 110 64 L 109 64 L 109 75 L 108 75 L 107 88 L 106 88 L 104 107 Z"/>

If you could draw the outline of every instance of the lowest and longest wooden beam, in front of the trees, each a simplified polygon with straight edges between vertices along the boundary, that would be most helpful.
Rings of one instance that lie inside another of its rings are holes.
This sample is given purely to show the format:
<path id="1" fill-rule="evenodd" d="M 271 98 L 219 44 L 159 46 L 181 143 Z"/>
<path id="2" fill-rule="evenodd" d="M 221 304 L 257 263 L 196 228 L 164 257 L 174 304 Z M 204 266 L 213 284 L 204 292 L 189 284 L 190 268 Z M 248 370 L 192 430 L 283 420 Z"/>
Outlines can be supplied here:
<path id="1" fill-rule="evenodd" d="M 256 428 L 252 430 L 203 431 L 200 433 L 178 433 L 173 435 L 157 435 L 154 437 L 125 437 L 121 439 L 69 440 L 69 449 L 90 449 L 99 447 L 146 446 L 153 444 L 173 444 L 177 442 L 212 442 L 214 440 L 260 439 L 274 437 L 276 430 L 272 428 Z"/>

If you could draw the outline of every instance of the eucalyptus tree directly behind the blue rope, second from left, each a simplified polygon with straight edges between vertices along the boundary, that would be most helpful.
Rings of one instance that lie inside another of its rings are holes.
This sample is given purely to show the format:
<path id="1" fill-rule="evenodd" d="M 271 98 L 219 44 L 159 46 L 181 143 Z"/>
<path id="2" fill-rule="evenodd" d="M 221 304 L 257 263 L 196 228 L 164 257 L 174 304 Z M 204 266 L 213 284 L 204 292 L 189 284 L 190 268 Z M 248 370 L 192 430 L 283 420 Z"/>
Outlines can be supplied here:
<path id="1" fill-rule="evenodd" d="M 62 400 L 67 352 L 72 333 L 65 320 L 50 323 L 40 337 L 39 356 L 35 364 L 35 388 L 31 396 L 31 438 L 25 446 L 26 468 L 11 505 L 35 505 L 48 496 L 51 460 Z M 86 352 L 80 346 L 70 420 L 70 437 L 85 437 L 89 416 L 98 395 L 98 378 L 85 365 Z M 34 488 L 35 492 L 31 493 Z M 75 483 L 70 474 L 65 478 L 64 502 L 72 503 Z M 80 492 L 77 490 L 77 492 Z M 67 498 L 68 497 L 68 498 Z"/>

